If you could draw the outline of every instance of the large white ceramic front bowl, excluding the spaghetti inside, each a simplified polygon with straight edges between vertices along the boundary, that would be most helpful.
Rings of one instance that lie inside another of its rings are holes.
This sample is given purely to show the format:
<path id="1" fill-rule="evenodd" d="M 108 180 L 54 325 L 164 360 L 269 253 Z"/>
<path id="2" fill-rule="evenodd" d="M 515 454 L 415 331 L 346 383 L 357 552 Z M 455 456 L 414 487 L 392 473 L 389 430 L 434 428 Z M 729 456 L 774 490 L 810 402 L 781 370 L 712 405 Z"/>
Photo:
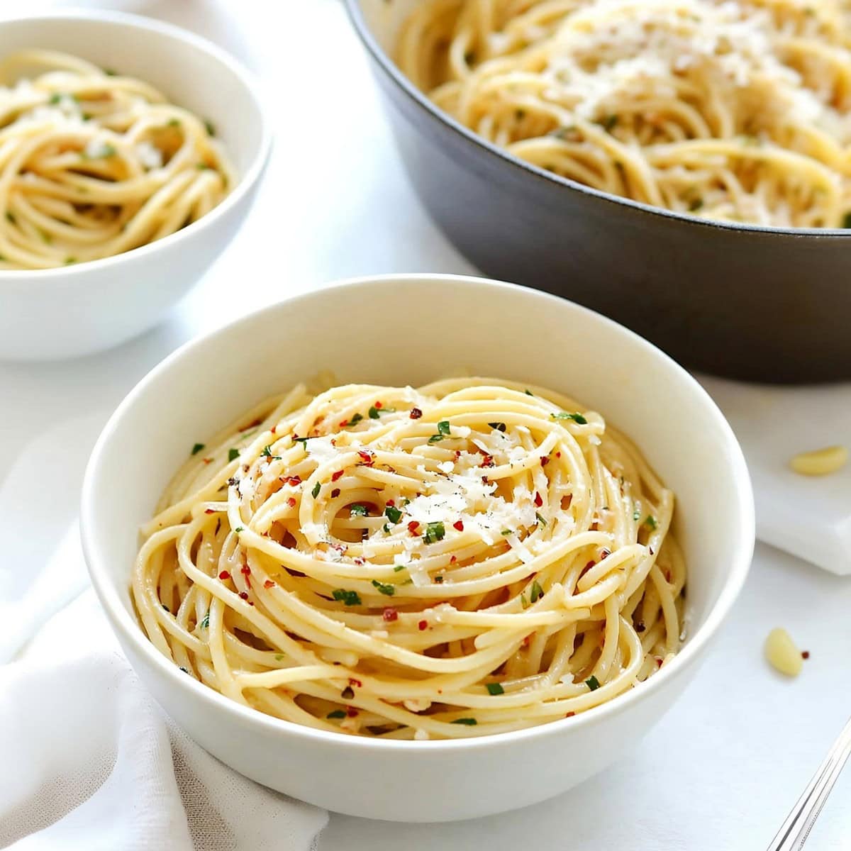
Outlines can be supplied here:
<path id="1" fill-rule="evenodd" d="M 321 369 L 341 383 L 419 385 L 460 368 L 569 392 L 633 437 L 674 489 L 688 565 L 688 639 L 670 665 L 608 704 L 540 727 L 470 740 L 374 741 L 237 705 L 151 645 L 129 596 L 138 528 L 193 443 Z M 523 807 L 628 751 L 694 676 L 745 580 L 754 543 L 745 460 L 688 373 L 637 335 L 568 301 L 447 275 L 350 281 L 267 307 L 174 352 L 140 381 L 100 436 L 81 523 L 94 588 L 124 652 L 192 738 L 294 797 L 403 821 Z"/>

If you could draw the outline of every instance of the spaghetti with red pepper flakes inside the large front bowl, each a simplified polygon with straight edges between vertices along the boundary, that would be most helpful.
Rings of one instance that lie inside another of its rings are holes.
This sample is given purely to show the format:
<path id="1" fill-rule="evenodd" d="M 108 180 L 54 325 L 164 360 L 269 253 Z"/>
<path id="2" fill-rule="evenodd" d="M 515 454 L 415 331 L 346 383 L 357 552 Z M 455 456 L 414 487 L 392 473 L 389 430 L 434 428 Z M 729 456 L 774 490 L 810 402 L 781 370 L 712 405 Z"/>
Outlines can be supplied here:
<path id="1" fill-rule="evenodd" d="M 509 382 L 298 386 L 143 528 L 151 642 L 312 728 L 450 739 L 611 700 L 680 643 L 674 498 L 600 414 Z"/>

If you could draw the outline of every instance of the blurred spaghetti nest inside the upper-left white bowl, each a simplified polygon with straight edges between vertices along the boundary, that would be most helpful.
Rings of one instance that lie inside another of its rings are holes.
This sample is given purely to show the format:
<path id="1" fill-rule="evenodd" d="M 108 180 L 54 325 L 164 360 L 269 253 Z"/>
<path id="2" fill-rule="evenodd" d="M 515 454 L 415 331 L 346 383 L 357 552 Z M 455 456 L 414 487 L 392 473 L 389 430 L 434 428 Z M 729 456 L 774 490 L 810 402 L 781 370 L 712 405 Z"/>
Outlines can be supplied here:
<path id="1" fill-rule="evenodd" d="M 233 185 L 212 125 L 147 83 L 48 50 L 8 56 L 0 80 L 0 270 L 122 254 Z"/>

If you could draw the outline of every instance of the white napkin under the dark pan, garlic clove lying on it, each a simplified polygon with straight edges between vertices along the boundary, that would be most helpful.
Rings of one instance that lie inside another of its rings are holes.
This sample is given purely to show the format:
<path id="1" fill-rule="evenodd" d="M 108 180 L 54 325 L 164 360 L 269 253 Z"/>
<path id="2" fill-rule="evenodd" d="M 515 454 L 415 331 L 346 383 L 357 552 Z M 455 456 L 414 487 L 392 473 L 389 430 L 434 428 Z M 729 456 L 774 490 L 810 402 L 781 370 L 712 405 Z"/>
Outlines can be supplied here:
<path id="1" fill-rule="evenodd" d="M 851 448 L 851 384 L 781 387 L 698 378 L 745 453 L 757 538 L 831 573 L 851 574 L 851 464 L 820 477 L 789 469 L 798 453 Z"/>

